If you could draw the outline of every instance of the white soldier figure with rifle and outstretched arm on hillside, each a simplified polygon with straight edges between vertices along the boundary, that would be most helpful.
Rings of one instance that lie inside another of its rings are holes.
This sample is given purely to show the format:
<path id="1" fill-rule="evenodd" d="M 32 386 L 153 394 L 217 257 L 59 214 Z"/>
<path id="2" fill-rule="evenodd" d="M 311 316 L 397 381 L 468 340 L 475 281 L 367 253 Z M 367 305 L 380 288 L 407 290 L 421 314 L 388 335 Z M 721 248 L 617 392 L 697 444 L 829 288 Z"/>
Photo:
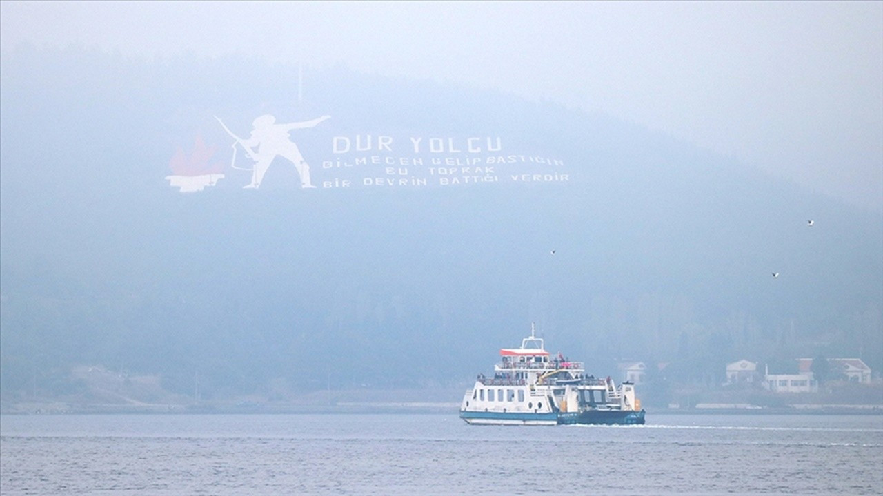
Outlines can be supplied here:
<path id="1" fill-rule="evenodd" d="M 304 160 L 304 156 L 300 154 L 298 146 L 291 141 L 288 133 L 293 129 L 313 127 L 329 118 L 331 118 L 331 116 L 321 116 L 312 121 L 275 124 L 274 116 L 260 116 L 254 119 L 252 135 L 248 139 L 239 139 L 227 129 L 227 126 L 224 126 L 224 130 L 229 132 L 230 136 L 236 139 L 237 142 L 245 148 L 245 154 L 251 157 L 254 161 L 252 183 L 244 187 L 257 189 L 260 186 L 260 181 L 264 178 L 264 174 L 267 173 L 270 163 L 272 163 L 277 156 L 282 155 L 283 158 L 294 164 L 295 169 L 298 169 L 300 187 L 314 188 L 315 186 L 310 182 L 310 166 Z M 218 121 L 220 122 L 221 119 L 218 119 Z M 223 125 L 223 122 L 221 125 Z M 236 147 L 236 144 L 234 144 L 233 147 Z M 254 152 L 253 147 L 258 147 L 256 153 Z"/>

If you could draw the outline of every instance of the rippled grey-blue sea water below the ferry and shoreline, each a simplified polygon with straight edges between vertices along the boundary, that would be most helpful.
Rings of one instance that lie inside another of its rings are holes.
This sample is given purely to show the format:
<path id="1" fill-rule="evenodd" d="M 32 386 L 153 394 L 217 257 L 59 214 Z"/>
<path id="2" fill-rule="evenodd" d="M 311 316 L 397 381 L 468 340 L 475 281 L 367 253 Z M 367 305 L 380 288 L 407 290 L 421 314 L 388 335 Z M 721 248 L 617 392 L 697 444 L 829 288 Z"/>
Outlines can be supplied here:
<path id="1" fill-rule="evenodd" d="M 10 496 L 883 492 L 883 416 L 34 415 L 0 417 L 0 436 Z"/>

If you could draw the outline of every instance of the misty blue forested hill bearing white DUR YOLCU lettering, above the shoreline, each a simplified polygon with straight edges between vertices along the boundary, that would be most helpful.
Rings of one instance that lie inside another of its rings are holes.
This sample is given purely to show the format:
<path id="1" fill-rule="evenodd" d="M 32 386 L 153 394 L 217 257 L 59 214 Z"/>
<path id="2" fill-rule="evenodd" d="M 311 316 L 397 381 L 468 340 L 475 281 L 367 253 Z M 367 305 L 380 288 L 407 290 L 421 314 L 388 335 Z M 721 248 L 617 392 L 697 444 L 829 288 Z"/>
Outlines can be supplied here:
<path id="1" fill-rule="evenodd" d="M 0 86 L 4 395 L 75 364 L 207 395 L 457 384 L 531 322 L 599 373 L 883 368 L 879 214 L 612 116 L 86 49 L 9 52 Z M 330 117 L 290 134 L 315 188 L 284 156 L 244 188 L 215 116 L 247 139 L 261 115 Z"/>

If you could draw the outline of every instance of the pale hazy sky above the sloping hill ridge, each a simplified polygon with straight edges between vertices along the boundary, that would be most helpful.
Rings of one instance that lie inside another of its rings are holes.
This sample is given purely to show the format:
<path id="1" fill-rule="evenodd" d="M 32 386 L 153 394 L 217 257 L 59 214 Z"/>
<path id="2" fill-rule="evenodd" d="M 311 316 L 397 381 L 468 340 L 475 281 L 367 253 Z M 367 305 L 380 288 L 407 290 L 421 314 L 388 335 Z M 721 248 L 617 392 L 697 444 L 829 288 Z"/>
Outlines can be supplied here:
<path id="1" fill-rule="evenodd" d="M 600 110 L 883 211 L 881 2 L 8 2 L 0 42 L 242 53 Z M 233 70 L 233 68 L 231 68 Z"/>

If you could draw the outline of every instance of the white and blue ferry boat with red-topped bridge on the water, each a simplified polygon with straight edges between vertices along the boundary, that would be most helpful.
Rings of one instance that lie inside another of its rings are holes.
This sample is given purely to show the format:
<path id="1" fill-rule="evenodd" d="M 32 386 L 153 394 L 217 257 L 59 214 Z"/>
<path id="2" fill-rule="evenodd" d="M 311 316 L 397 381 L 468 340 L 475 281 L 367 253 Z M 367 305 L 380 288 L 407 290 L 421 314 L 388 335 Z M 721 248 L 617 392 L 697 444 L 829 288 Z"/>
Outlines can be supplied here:
<path id="1" fill-rule="evenodd" d="M 582 362 L 551 356 L 535 332 L 531 325 L 520 348 L 501 349 L 494 377 L 479 374 L 466 390 L 460 418 L 467 424 L 644 424 L 634 384 L 585 375 Z"/>

